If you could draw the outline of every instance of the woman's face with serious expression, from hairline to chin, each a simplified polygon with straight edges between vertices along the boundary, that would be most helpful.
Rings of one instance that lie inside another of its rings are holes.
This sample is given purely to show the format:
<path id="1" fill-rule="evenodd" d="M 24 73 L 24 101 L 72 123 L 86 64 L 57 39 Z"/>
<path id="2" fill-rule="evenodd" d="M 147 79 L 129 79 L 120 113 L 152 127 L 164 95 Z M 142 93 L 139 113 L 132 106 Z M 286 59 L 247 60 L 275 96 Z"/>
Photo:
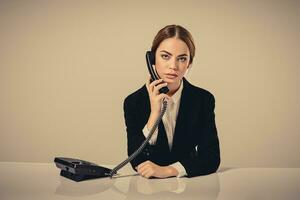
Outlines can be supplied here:
<path id="1" fill-rule="evenodd" d="M 155 53 L 156 71 L 168 85 L 180 83 L 189 67 L 189 62 L 189 48 L 178 38 L 163 40 Z"/>

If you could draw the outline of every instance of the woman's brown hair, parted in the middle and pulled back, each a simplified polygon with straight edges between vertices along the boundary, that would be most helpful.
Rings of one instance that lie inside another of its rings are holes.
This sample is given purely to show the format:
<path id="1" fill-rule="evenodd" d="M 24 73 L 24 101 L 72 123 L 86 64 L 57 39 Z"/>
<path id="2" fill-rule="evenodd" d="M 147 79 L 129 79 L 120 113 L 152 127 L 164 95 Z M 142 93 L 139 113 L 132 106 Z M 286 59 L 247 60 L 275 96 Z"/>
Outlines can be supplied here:
<path id="1" fill-rule="evenodd" d="M 152 42 L 151 51 L 155 55 L 155 52 L 159 44 L 165 39 L 173 38 L 173 37 L 178 38 L 186 43 L 186 45 L 190 50 L 190 64 L 191 64 L 195 56 L 194 40 L 191 33 L 180 25 L 168 25 L 162 28 L 160 31 L 158 31 L 158 33 L 156 34 Z"/>

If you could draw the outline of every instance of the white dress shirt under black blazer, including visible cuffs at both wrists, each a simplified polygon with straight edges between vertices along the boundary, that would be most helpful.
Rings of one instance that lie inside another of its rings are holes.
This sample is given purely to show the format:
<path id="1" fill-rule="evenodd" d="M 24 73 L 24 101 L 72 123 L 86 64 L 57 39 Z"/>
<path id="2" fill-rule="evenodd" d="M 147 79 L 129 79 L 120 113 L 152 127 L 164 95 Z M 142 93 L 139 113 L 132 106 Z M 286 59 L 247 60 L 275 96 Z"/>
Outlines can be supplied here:
<path id="1" fill-rule="evenodd" d="M 174 129 L 176 125 L 176 119 L 178 115 L 182 89 L 183 89 L 183 84 L 181 81 L 179 89 L 171 96 L 170 100 L 168 101 L 167 110 L 162 118 L 166 130 L 170 150 L 172 149 L 172 145 L 173 145 Z M 147 124 L 143 129 L 143 133 L 145 137 L 149 135 Z M 154 145 L 156 143 L 157 135 L 158 135 L 158 128 L 155 130 L 155 132 L 153 133 L 149 141 L 150 145 Z M 179 172 L 177 177 L 183 177 L 187 175 L 185 168 L 182 166 L 180 162 L 173 163 L 170 166 L 174 167 Z"/>

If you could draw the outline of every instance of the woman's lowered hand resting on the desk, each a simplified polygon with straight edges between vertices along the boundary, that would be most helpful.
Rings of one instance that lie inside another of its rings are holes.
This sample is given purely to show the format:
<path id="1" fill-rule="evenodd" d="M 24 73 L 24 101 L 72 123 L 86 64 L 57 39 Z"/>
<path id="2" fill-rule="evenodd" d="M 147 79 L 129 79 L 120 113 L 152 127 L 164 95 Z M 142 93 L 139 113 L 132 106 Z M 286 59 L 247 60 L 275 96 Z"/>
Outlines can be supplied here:
<path id="1" fill-rule="evenodd" d="M 159 166 L 149 160 L 139 164 L 136 167 L 137 172 L 145 177 L 157 177 L 157 178 L 167 178 L 171 176 L 177 176 L 178 171 L 171 166 Z"/>

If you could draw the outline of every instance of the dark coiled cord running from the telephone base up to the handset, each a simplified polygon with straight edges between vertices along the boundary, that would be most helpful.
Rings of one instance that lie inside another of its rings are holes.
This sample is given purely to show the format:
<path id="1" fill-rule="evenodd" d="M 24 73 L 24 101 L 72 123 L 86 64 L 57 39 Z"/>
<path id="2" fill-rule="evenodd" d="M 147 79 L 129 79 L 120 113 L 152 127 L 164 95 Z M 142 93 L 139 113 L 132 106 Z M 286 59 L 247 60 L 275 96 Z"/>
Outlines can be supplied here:
<path id="1" fill-rule="evenodd" d="M 149 140 L 151 139 L 154 131 L 156 130 L 156 128 L 158 127 L 159 122 L 161 121 L 162 117 L 164 116 L 166 110 L 167 110 L 167 105 L 168 102 L 166 100 L 163 100 L 162 103 L 162 109 L 161 112 L 155 122 L 155 124 L 153 125 L 153 127 L 151 128 L 149 135 L 147 136 L 147 138 L 145 139 L 145 141 L 142 143 L 142 145 L 135 150 L 135 152 L 133 152 L 133 154 L 131 154 L 126 160 L 124 160 L 123 162 L 121 162 L 119 165 L 117 165 L 115 168 L 113 168 L 111 170 L 111 172 L 109 173 L 110 178 L 113 177 L 114 174 L 117 173 L 118 170 L 120 170 L 122 167 L 124 167 L 127 163 L 129 163 L 131 160 L 133 160 L 137 155 L 139 155 L 143 149 L 145 148 L 145 146 L 147 145 L 147 143 L 149 142 Z"/>

